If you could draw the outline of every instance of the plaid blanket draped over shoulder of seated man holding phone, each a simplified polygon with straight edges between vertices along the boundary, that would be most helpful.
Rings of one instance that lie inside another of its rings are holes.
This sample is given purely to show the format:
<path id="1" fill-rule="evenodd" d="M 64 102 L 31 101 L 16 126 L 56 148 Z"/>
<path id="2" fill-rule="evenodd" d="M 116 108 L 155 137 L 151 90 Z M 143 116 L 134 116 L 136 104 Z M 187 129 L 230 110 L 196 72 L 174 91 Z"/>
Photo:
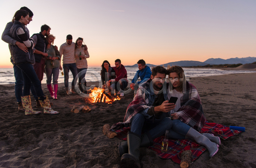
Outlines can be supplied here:
<path id="1" fill-rule="evenodd" d="M 128 105 L 125 113 L 124 122 L 118 122 L 111 126 L 112 130 L 122 129 L 130 126 L 131 118 L 134 117 L 138 112 L 143 111 L 144 109 L 150 108 L 154 104 L 156 95 L 153 90 L 153 85 L 151 83 L 152 79 L 148 79 L 145 83 L 139 86 L 137 93 L 133 101 Z M 163 84 L 163 95 L 165 100 L 167 100 L 167 90 L 166 82 Z"/>

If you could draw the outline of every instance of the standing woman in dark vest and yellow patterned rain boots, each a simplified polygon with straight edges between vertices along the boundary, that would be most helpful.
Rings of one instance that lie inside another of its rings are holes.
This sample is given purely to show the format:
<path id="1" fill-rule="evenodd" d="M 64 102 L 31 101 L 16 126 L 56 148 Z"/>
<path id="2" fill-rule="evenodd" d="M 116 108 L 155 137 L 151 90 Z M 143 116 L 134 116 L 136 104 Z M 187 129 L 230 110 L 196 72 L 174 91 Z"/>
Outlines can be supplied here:
<path id="1" fill-rule="evenodd" d="M 13 17 L 13 25 L 10 29 L 10 36 L 20 43 L 23 43 L 28 48 L 28 52 L 24 52 L 17 45 L 9 45 L 11 57 L 13 63 L 20 68 L 24 80 L 23 96 L 21 97 L 22 106 L 25 110 L 25 115 L 37 115 L 40 111 L 34 111 L 31 106 L 30 98 L 30 87 L 31 83 L 35 87 L 35 92 L 39 97 L 39 102 L 41 107 L 44 108 L 44 114 L 55 115 L 59 112 L 52 110 L 49 98 L 44 95 L 41 87 L 41 81 L 39 81 L 38 76 L 35 73 L 32 64 L 35 64 L 35 57 L 33 53 L 33 39 L 29 39 L 29 34 L 25 30 L 25 25 L 29 23 L 29 12 L 25 10 L 16 11 Z"/>

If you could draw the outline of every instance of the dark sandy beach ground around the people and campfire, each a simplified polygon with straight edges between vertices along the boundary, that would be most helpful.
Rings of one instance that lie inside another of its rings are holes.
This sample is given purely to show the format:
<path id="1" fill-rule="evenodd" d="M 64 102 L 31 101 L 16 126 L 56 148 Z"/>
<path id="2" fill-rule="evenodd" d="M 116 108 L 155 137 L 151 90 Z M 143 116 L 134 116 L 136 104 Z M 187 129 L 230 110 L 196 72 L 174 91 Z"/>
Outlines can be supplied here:
<path id="1" fill-rule="evenodd" d="M 221 140 L 210 160 L 206 151 L 191 167 L 256 168 L 256 73 L 197 77 L 190 82 L 198 89 L 209 122 L 246 128 L 238 136 Z M 49 95 L 46 84 L 42 87 Z M 113 104 L 91 104 L 77 93 L 67 95 L 64 84 L 59 84 L 58 100 L 50 101 L 60 114 L 35 116 L 17 110 L 14 85 L 1 85 L 0 93 L 1 168 L 120 168 L 116 150 L 120 140 L 102 134 L 102 126 L 123 120 L 133 92 Z M 82 104 L 90 106 L 91 112 L 70 112 Z M 180 167 L 148 148 L 140 148 L 140 155 L 143 168 Z"/>

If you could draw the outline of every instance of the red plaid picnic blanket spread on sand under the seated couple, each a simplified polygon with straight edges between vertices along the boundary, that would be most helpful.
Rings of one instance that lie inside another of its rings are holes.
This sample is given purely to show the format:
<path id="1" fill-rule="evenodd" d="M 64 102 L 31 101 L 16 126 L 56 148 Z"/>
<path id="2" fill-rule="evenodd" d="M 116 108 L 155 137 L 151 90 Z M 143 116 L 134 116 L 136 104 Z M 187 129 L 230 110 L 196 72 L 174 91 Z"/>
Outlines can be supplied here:
<path id="1" fill-rule="evenodd" d="M 126 134 L 130 130 L 129 128 L 122 128 L 119 130 L 112 130 L 116 132 L 117 138 L 121 140 L 126 140 Z M 228 137 L 232 137 L 241 133 L 241 131 L 232 130 L 227 126 L 218 124 L 218 123 L 209 123 L 205 122 L 204 127 L 201 129 L 200 133 L 210 133 L 214 134 L 215 136 L 220 137 L 222 140 L 226 140 Z M 148 147 L 157 153 L 157 155 L 163 159 L 171 159 L 173 162 L 180 164 L 181 160 L 181 153 L 184 150 L 191 150 L 192 151 L 192 158 L 191 162 L 197 160 L 197 158 L 207 149 L 204 146 L 195 143 L 195 141 L 184 139 L 184 140 L 175 140 L 169 139 L 168 144 L 168 151 L 167 153 L 161 152 L 162 147 L 162 140 L 164 136 L 157 137 L 154 139 L 154 145 Z"/>

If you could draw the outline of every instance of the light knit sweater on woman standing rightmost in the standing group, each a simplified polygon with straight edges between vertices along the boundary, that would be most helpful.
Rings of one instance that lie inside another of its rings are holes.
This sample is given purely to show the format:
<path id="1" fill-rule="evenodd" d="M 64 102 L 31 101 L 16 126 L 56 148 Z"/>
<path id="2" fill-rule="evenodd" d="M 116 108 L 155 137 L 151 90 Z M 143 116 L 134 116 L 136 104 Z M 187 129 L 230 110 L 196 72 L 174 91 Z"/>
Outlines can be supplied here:
<path id="1" fill-rule="evenodd" d="M 79 59 L 80 58 L 80 52 L 81 52 L 81 56 L 84 56 L 84 58 L 81 58 L 81 60 Z M 78 47 L 76 46 L 76 50 L 75 50 L 75 58 L 76 58 L 76 67 L 78 69 L 81 69 L 81 68 L 88 68 L 88 65 L 87 65 L 87 58 L 89 58 L 89 53 L 88 53 L 88 50 L 85 50 L 84 51 L 84 47 Z"/>

